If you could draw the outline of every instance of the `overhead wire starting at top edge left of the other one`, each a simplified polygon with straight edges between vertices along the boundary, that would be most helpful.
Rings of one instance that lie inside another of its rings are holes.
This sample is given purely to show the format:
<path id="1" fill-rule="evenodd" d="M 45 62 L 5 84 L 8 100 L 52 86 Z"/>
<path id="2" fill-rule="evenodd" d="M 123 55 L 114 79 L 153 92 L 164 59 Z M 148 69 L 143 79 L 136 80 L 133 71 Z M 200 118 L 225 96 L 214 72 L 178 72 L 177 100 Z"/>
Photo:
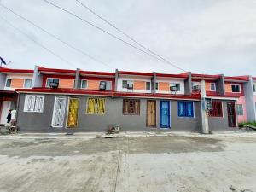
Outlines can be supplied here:
<path id="1" fill-rule="evenodd" d="M 51 3 L 51 2 L 49 2 L 49 1 L 47 1 L 47 0 L 43 0 L 43 1 L 44 1 L 45 3 L 51 4 L 52 6 L 54 6 L 54 7 L 57 8 L 57 9 L 61 9 L 62 11 L 66 12 L 66 13 L 69 14 L 69 15 L 73 15 L 73 17 L 76 17 L 77 19 L 82 20 L 84 23 L 87 23 L 87 24 L 89 24 L 90 26 L 93 26 L 93 27 L 95 27 L 96 29 L 98 29 L 98 30 L 100 30 L 100 31 L 102 31 L 102 32 L 107 33 L 109 36 L 118 39 L 119 41 L 123 42 L 124 44 L 127 44 L 127 45 L 131 46 L 132 48 L 137 49 L 137 50 L 143 52 L 144 54 L 147 54 L 147 55 L 153 57 L 154 59 L 156 59 L 156 60 L 158 60 L 158 61 L 162 61 L 160 58 L 156 57 L 155 55 L 149 54 L 149 53 L 146 52 L 145 50 L 140 49 L 140 48 L 137 48 L 135 45 L 130 44 L 129 42 L 126 42 L 126 41 L 123 40 L 122 38 L 119 38 L 119 37 L 117 37 L 116 35 L 112 34 L 111 32 L 108 32 L 108 31 L 102 29 L 100 26 L 96 26 L 95 24 L 91 23 L 91 22 L 88 21 L 88 20 L 84 20 L 83 18 L 79 17 L 78 15 L 73 14 L 72 12 L 68 11 L 67 9 L 63 9 L 63 8 L 61 8 L 59 5 L 56 5 L 55 3 Z M 172 65 L 172 64 L 171 64 L 171 65 Z M 176 66 L 173 66 L 173 65 L 172 65 L 172 67 L 176 67 Z M 180 67 L 176 67 L 176 68 L 178 68 L 178 69 L 180 69 L 180 70 L 182 70 L 182 71 L 185 71 L 185 70 L 183 70 L 183 69 L 180 68 Z"/>

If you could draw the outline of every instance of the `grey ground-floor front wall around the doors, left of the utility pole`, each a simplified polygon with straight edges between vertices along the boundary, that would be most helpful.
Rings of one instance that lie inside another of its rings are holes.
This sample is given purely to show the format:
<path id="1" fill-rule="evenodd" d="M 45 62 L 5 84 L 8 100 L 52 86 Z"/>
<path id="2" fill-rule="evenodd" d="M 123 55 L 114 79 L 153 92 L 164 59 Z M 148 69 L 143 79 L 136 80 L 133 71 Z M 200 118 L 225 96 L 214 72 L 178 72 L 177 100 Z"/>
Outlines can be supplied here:
<path id="1" fill-rule="evenodd" d="M 73 131 L 106 131 L 109 125 L 118 124 L 122 131 L 154 131 L 160 128 L 160 100 L 156 102 L 157 128 L 146 126 L 147 99 L 140 99 L 140 115 L 123 115 L 123 98 L 107 97 L 106 114 L 88 115 L 85 114 L 86 102 L 89 96 L 73 96 L 79 98 L 79 125 Z M 67 131 L 63 128 L 51 128 L 51 118 L 54 108 L 55 96 L 45 95 L 44 113 L 23 112 L 25 94 L 20 94 L 20 108 L 18 116 L 18 126 L 20 131 Z M 195 102 L 195 118 L 177 117 L 177 101 L 171 102 L 171 129 L 162 131 L 200 131 L 201 114 L 200 102 Z M 67 113 L 67 109 L 66 109 Z M 67 116 L 67 115 L 65 115 Z M 66 119 L 65 119 L 66 121 Z"/>

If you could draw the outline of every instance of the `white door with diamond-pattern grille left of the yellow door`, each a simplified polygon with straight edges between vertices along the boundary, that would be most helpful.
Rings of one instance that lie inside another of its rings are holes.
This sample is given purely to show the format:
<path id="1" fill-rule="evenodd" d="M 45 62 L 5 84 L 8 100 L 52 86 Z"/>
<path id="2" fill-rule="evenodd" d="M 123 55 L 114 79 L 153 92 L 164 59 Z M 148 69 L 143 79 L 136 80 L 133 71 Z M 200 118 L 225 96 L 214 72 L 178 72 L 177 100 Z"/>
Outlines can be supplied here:
<path id="1" fill-rule="evenodd" d="M 65 96 L 55 96 L 55 106 L 52 115 L 51 126 L 63 127 L 67 99 Z"/>

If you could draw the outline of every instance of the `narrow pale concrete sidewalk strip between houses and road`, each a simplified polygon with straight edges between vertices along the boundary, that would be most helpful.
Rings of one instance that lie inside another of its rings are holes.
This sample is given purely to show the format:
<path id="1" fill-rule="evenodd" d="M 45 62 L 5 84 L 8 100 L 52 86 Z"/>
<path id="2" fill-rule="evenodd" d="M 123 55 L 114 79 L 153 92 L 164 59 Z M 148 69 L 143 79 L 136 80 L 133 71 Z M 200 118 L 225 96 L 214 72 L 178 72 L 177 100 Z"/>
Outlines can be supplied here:
<path id="1" fill-rule="evenodd" d="M 0 135 L 0 138 L 31 138 L 31 139 L 93 139 L 93 138 L 113 138 L 113 137 L 255 137 L 256 131 L 219 131 L 212 134 L 201 134 L 196 132 L 153 132 L 153 131 L 127 131 L 119 134 L 106 135 L 105 132 L 75 132 L 73 135 L 67 133 L 14 133 L 10 135 Z"/>

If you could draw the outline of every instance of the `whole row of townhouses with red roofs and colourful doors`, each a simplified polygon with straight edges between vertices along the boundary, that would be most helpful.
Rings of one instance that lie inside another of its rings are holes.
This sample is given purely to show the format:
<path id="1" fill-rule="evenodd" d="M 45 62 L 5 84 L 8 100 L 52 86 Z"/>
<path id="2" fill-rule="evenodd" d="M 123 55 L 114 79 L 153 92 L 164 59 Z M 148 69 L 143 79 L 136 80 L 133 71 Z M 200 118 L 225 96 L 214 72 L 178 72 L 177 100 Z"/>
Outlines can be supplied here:
<path id="1" fill-rule="evenodd" d="M 0 94 L 0 124 L 16 108 L 20 131 L 201 131 L 206 120 L 227 131 L 256 119 L 251 76 L 2 67 Z"/>

